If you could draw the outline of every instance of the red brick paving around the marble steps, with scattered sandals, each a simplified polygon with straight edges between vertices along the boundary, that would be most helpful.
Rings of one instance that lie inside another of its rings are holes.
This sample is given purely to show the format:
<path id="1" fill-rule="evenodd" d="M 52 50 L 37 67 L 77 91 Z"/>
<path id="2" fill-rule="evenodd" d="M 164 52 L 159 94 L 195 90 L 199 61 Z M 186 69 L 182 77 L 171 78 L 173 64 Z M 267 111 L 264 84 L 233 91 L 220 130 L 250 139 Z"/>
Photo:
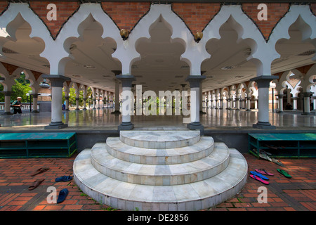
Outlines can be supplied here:
<path id="1" fill-rule="evenodd" d="M 107 211 L 114 210 L 107 205 L 100 205 L 82 193 L 74 180 L 55 182 L 58 176 L 72 175 L 72 164 L 77 155 L 72 158 L 32 158 L 32 159 L 0 159 L 0 211 Z M 273 162 L 244 154 L 249 166 L 249 172 L 264 168 L 275 176 L 269 176 L 270 184 L 248 180 L 242 191 L 234 198 L 213 207 L 211 211 L 315 211 L 316 210 L 316 177 L 315 159 L 282 159 L 286 167 L 280 167 Z M 50 169 L 43 174 L 30 176 L 40 167 Z M 277 172 L 277 168 L 286 169 L 291 179 Z M 28 187 L 39 178 L 45 181 L 36 189 L 29 191 Z M 63 203 L 48 203 L 50 194 L 47 188 L 53 186 L 57 193 L 67 188 L 69 194 Z M 258 203 L 258 188 L 267 188 L 267 203 Z"/>

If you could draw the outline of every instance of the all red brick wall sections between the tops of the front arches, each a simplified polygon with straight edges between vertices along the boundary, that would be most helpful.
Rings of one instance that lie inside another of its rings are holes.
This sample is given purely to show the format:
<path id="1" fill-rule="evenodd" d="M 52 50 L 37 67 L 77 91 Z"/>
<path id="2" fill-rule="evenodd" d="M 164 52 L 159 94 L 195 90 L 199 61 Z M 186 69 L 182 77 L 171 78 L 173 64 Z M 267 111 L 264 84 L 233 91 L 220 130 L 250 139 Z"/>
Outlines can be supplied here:
<path id="1" fill-rule="evenodd" d="M 46 9 L 46 6 L 49 3 L 49 1 L 29 1 L 32 10 L 44 21 L 53 38 L 55 38 L 60 31 L 61 26 L 68 18 L 70 18 L 72 13 L 79 8 L 79 3 L 77 1 L 55 1 L 54 4 L 57 6 L 58 20 L 48 21 L 46 15 L 49 10 Z M 132 30 L 140 18 L 150 10 L 150 3 L 147 2 L 102 2 L 101 5 L 105 13 L 110 15 L 119 29 L 125 28 L 127 30 Z M 4 11 L 6 6 L 6 1 L 0 2 L 0 13 Z M 258 25 L 265 39 L 268 39 L 279 19 L 287 13 L 289 4 L 267 4 L 268 20 L 266 21 L 259 21 L 257 19 L 258 12 L 260 11 L 257 9 L 257 6 L 258 3 L 242 4 L 242 9 L 252 20 L 254 20 L 254 23 Z M 312 12 L 316 14 L 316 4 L 311 4 L 310 8 Z M 218 13 L 220 4 L 174 3 L 172 4 L 172 9 L 183 19 L 192 33 L 195 34 L 197 31 L 202 31 L 214 15 Z"/>

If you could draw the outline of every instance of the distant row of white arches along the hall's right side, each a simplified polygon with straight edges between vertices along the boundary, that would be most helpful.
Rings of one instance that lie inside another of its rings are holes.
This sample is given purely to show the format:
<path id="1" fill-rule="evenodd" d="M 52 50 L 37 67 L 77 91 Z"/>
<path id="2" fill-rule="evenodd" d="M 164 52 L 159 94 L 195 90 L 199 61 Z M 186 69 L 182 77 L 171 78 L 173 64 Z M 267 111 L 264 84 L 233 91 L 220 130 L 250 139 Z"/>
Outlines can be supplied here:
<path id="1" fill-rule="evenodd" d="M 316 105 L 316 64 L 309 65 L 309 70 L 306 74 L 298 69 L 291 69 L 282 72 L 279 75 L 279 79 L 273 79 L 270 82 L 270 88 L 275 89 L 275 96 L 278 98 L 278 110 L 283 110 L 283 97 L 284 91 L 289 89 L 290 94 L 293 98 L 294 110 L 297 110 L 297 98 L 298 94 L 305 94 L 305 96 L 312 96 L 313 105 Z M 291 79 L 295 79 L 291 84 Z M 301 91 L 300 91 L 301 90 Z M 272 96 L 274 98 L 274 96 Z M 306 97 L 307 98 L 307 97 Z M 226 101 L 227 108 L 241 108 L 241 101 L 246 101 L 246 109 L 250 110 L 250 101 L 254 99 L 258 100 L 258 86 L 256 82 L 242 82 L 240 84 L 234 84 L 231 86 L 225 86 L 222 89 L 216 89 L 213 91 L 207 91 L 202 94 L 204 108 L 222 108 L 223 99 Z M 236 103 L 234 104 L 234 102 Z M 308 103 L 308 102 L 306 102 Z M 234 105 L 233 105 L 234 104 Z M 255 108 L 257 105 L 255 105 Z M 310 103 L 307 104 L 306 108 L 303 108 L 304 113 L 309 113 Z M 245 107 L 244 107 L 245 108 Z M 306 110 L 306 111 L 305 111 Z"/>

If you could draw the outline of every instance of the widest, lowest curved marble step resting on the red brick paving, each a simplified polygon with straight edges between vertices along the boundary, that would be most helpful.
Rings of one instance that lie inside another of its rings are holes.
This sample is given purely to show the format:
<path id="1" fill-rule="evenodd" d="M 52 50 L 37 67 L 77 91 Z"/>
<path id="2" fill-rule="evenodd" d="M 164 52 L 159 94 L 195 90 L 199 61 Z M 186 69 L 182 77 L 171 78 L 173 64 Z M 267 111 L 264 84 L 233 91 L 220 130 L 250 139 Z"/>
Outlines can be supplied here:
<path id="1" fill-rule="evenodd" d="M 91 164 L 91 149 L 74 160 L 74 181 L 94 200 L 121 210 L 192 211 L 223 203 L 246 183 L 247 163 L 230 149 L 230 163 L 216 176 L 192 184 L 147 186 L 112 179 Z"/>

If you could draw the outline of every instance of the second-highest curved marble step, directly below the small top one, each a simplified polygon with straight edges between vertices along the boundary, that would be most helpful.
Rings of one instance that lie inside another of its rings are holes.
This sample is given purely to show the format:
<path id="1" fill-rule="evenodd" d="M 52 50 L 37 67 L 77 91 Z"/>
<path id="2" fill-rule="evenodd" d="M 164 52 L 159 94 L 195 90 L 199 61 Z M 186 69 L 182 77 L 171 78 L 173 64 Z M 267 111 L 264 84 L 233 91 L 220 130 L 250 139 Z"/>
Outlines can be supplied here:
<path id="1" fill-rule="evenodd" d="M 127 162 L 152 165 L 170 165 L 200 160 L 210 155 L 214 148 L 211 136 L 202 136 L 197 143 L 180 148 L 140 148 L 123 143 L 118 137 L 108 137 L 105 148 L 115 158 Z"/>

